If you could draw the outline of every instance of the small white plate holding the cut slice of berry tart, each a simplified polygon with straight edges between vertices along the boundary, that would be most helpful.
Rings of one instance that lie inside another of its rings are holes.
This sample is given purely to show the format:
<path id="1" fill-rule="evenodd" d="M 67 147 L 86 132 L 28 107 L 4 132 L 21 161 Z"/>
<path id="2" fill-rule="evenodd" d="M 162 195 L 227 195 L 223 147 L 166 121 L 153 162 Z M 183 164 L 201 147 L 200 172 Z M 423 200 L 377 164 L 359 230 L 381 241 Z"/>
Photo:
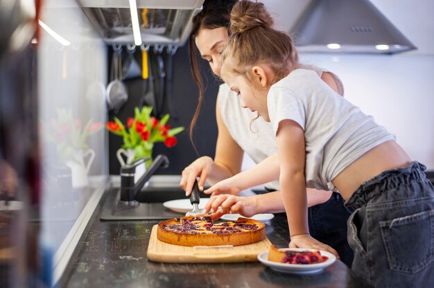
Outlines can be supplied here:
<path id="1" fill-rule="evenodd" d="M 280 249 L 279 249 L 280 250 Z M 315 249 L 305 249 L 305 248 L 286 248 L 281 249 L 284 251 L 316 251 Z M 264 251 L 262 253 L 259 253 L 258 260 L 262 262 L 262 264 L 270 267 L 271 269 L 274 269 L 279 272 L 285 272 L 285 273 L 297 273 L 297 274 L 311 274 L 311 273 L 318 273 L 322 271 L 325 267 L 333 264 L 336 261 L 335 255 L 320 250 L 321 255 L 327 256 L 329 259 L 325 260 L 321 263 L 315 263 L 315 264 L 286 264 L 286 263 L 279 263 L 274 261 L 268 261 L 268 251 Z"/>

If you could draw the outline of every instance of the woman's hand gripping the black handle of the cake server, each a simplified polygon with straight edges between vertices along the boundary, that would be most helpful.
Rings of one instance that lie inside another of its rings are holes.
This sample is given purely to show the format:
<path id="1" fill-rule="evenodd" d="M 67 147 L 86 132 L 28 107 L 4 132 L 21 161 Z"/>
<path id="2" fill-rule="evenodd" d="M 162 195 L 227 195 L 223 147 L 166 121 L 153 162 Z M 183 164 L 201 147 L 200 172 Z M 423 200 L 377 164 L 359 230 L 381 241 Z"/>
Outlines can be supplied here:
<path id="1" fill-rule="evenodd" d="M 202 156 L 193 161 L 193 163 L 184 168 L 184 170 L 182 170 L 182 179 L 180 181 L 180 186 L 182 189 L 185 190 L 185 196 L 190 195 L 196 177 L 199 177 L 199 189 L 201 191 L 203 190 L 203 186 L 205 186 L 205 181 L 207 181 L 213 164 L 214 161 L 213 159 L 211 159 L 211 157 Z"/>

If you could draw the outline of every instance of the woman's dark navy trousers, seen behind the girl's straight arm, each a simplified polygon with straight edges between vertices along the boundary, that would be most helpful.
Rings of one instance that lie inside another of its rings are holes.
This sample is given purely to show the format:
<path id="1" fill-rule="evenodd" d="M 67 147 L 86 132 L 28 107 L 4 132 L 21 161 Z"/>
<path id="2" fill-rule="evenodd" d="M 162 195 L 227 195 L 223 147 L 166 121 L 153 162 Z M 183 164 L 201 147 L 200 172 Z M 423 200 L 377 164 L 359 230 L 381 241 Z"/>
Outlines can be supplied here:
<path id="1" fill-rule="evenodd" d="M 335 249 L 340 260 L 351 267 L 354 253 L 347 242 L 347 220 L 351 211 L 344 206 L 344 199 L 333 192 L 330 199 L 308 209 L 309 233 L 316 240 Z"/>

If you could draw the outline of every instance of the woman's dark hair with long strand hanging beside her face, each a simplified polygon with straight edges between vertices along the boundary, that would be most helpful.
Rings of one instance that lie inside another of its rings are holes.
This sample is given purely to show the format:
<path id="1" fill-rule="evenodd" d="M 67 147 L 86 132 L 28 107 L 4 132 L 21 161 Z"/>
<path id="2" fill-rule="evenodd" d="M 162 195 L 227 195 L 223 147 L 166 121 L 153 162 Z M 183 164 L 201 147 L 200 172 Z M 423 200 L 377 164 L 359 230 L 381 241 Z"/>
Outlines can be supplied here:
<path id="1" fill-rule="evenodd" d="M 204 86 L 198 68 L 197 48 L 194 40 L 200 29 L 215 29 L 220 27 L 226 27 L 229 29 L 230 13 L 232 7 L 234 7 L 237 2 L 238 0 L 205 0 L 205 3 L 203 3 L 202 6 L 202 11 L 193 18 L 193 24 L 189 35 L 189 56 L 191 73 L 193 74 L 193 79 L 199 88 L 199 99 L 196 111 L 191 119 L 189 135 L 190 141 L 193 143 L 195 150 L 196 145 L 194 145 L 193 142 L 193 129 L 198 120 L 200 108 L 202 107 Z M 198 153 L 198 150 L 196 150 L 196 153 Z"/>

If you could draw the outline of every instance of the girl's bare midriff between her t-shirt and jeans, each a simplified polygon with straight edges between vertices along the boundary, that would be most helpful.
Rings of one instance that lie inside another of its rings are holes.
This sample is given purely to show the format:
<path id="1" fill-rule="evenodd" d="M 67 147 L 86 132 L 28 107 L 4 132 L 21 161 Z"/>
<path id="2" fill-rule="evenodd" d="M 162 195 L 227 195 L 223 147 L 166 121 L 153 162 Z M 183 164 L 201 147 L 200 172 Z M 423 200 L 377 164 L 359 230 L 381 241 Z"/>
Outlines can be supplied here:
<path id="1" fill-rule="evenodd" d="M 402 168 L 410 163 L 410 157 L 395 141 L 386 141 L 363 154 L 340 172 L 333 179 L 333 185 L 338 189 L 342 198 L 348 200 L 365 181 L 376 177 L 381 172 Z"/>

